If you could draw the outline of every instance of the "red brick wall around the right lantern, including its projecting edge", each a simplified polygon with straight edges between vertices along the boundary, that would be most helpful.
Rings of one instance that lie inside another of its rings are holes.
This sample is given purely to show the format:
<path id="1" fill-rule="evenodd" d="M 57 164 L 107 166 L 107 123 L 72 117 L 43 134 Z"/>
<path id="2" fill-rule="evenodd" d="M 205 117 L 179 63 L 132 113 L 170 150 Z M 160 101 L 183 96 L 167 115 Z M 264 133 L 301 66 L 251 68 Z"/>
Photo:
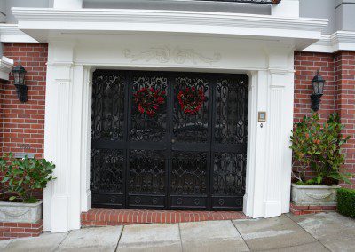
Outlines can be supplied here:
<path id="1" fill-rule="evenodd" d="M 294 122 L 311 114 L 311 82 L 317 70 L 327 81 L 318 113 L 322 121 L 327 120 L 329 114 L 340 114 L 346 127 L 343 133 L 351 136 L 349 143 L 343 146 L 347 154 L 345 168 L 354 174 L 352 180 L 355 183 L 355 52 L 295 52 Z M 306 176 L 312 177 L 312 173 L 308 172 Z M 355 188 L 355 185 L 351 186 Z"/>

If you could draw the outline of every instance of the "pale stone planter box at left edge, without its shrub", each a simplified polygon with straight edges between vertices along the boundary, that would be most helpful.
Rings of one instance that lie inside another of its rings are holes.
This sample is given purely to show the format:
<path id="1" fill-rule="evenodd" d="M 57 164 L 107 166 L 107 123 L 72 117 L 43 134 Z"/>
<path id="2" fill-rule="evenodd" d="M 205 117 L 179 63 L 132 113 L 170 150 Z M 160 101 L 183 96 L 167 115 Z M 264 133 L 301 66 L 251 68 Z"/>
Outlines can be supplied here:
<path id="1" fill-rule="evenodd" d="M 19 203 L 0 201 L 0 222 L 36 223 L 42 219 L 43 201 Z"/>

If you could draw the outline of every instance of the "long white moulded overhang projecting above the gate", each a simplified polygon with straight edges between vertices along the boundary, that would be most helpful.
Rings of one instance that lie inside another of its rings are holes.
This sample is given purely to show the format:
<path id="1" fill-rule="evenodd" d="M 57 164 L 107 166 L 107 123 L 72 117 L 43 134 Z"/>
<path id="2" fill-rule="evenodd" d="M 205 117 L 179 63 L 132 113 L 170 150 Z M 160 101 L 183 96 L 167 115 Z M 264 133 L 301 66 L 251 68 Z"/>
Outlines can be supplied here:
<path id="1" fill-rule="evenodd" d="M 81 35 L 173 34 L 270 40 L 303 50 L 319 41 L 327 26 L 327 20 L 226 12 L 12 8 L 12 13 L 18 28 L 42 43 Z"/>

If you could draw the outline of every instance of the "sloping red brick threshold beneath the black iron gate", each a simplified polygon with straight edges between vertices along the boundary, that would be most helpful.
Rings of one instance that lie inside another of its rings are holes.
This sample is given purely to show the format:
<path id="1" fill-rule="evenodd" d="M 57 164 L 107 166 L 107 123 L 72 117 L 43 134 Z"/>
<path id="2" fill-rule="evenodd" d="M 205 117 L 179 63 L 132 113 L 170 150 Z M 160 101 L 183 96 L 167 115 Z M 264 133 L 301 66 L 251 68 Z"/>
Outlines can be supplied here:
<path id="1" fill-rule="evenodd" d="M 184 211 L 142 209 L 90 209 L 83 212 L 83 226 L 183 223 L 209 220 L 247 219 L 240 211 Z"/>

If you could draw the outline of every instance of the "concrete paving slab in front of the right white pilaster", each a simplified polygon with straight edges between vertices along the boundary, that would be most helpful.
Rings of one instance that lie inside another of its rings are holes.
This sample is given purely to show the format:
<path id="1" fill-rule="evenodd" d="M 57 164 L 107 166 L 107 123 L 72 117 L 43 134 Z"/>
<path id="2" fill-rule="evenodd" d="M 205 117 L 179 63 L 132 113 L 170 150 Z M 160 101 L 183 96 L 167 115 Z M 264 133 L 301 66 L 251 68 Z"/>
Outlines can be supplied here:
<path id="1" fill-rule="evenodd" d="M 251 250 L 286 248 L 317 241 L 287 216 L 235 220 L 233 223 Z"/>

